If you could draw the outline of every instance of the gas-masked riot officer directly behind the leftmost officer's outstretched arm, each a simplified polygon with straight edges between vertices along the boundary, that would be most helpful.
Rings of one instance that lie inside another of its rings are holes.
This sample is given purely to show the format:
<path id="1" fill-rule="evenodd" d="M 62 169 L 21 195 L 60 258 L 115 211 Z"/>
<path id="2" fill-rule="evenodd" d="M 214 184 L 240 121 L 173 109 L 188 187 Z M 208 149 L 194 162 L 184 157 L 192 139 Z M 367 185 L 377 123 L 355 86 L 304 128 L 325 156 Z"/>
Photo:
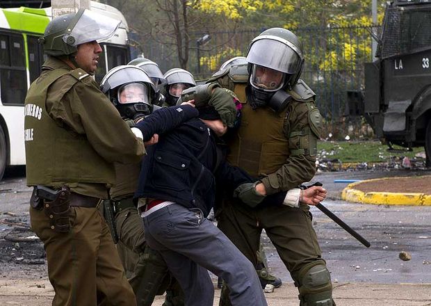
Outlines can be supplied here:
<path id="1" fill-rule="evenodd" d="M 111 69 L 102 79 L 100 88 L 130 126 L 160 108 L 152 104 L 158 97 L 154 83 L 137 65 Z M 111 202 L 106 205 L 112 205 L 114 211 L 114 220 L 108 223 L 114 223 L 111 230 L 117 235 L 117 250 L 137 304 L 151 306 L 154 297 L 165 292 L 171 277 L 165 261 L 145 243 L 143 221 L 133 202 L 139 172 L 140 163 L 115 163 L 116 183 L 110 190 Z M 108 214 L 105 216 L 110 218 Z M 172 284 L 168 290 L 165 305 L 184 305 L 184 295 L 178 285 Z"/>

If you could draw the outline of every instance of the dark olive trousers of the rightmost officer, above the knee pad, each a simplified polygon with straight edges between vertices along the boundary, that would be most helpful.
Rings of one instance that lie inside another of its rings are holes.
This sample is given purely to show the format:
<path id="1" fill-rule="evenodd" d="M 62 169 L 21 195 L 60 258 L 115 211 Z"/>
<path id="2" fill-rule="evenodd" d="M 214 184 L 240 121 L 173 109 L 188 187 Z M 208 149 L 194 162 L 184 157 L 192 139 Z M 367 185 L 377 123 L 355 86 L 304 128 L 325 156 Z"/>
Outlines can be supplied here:
<path id="1" fill-rule="evenodd" d="M 252 208 L 236 200 L 225 200 L 216 217 L 220 230 L 254 266 L 258 262 L 257 251 L 263 229 L 295 282 L 298 283 L 300 269 L 306 264 L 315 261 L 325 264 L 307 205 L 300 208 L 258 205 Z M 222 289 L 220 305 L 231 305 L 226 286 Z"/>

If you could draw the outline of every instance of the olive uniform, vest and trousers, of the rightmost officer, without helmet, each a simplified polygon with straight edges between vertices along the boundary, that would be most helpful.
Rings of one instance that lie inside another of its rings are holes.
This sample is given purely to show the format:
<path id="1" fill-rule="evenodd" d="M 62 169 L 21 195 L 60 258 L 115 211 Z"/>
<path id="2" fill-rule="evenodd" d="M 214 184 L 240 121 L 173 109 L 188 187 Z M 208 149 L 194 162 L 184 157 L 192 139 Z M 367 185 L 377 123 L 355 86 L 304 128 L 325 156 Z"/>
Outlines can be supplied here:
<path id="1" fill-rule="evenodd" d="M 308 182 L 316 172 L 318 123 L 321 122 L 314 94 L 299 81 L 293 91 L 288 92 L 293 100 L 281 113 L 268 107 L 253 110 L 245 95 L 247 79 L 246 74 L 229 73 L 217 80 L 243 102 L 241 127 L 228 140 L 227 160 L 250 175 L 260 177 L 268 195 Z M 218 211 L 218 227 L 254 264 L 257 264 L 259 237 L 265 229 L 299 287 L 300 295 L 316 289 L 308 289 L 304 275 L 307 276 L 314 266 L 325 267 L 325 261 L 321 258 L 307 205 L 301 204 L 300 209 L 285 205 L 252 208 L 229 198 Z M 329 277 L 329 273 L 325 273 L 322 272 L 323 278 Z M 321 285 L 323 287 L 318 290 L 330 290 L 327 279 Z M 222 292 L 220 305 L 230 305 L 227 290 Z"/>

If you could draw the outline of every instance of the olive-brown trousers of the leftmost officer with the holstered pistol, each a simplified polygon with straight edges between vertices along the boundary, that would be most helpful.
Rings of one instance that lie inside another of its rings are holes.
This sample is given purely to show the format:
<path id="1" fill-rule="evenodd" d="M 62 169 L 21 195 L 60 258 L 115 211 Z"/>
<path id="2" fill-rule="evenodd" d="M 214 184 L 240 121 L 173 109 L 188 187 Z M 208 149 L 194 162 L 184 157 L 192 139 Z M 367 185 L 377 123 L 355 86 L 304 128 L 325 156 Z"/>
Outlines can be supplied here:
<path id="1" fill-rule="evenodd" d="M 43 209 L 30 207 L 31 227 L 44 243 L 53 306 L 133 306 L 136 299 L 97 208 L 70 207 L 70 232 L 51 230 Z"/>

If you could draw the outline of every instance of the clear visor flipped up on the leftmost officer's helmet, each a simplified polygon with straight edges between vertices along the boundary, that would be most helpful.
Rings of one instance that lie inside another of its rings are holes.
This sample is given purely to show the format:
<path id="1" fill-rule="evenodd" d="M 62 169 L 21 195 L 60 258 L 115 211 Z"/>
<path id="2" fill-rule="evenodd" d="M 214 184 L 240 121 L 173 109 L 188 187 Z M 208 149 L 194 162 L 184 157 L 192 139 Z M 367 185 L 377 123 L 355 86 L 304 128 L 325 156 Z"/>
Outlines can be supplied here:
<path id="1" fill-rule="evenodd" d="M 67 29 L 63 40 L 68 45 L 77 46 L 86 42 L 108 40 L 117 31 L 121 22 L 111 17 L 84 10 L 72 29 Z"/>

